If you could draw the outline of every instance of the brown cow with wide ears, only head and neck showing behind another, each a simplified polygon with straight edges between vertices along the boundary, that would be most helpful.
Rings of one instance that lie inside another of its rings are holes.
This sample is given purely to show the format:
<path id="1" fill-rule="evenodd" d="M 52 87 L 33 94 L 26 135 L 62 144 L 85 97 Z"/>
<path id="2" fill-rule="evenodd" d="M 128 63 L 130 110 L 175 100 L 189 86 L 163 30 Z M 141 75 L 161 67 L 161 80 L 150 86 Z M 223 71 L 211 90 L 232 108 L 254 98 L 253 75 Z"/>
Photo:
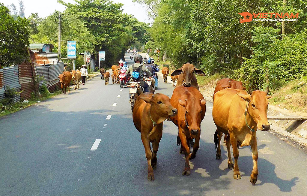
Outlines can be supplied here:
<path id="1" fill-rule="evenodd" d="M 180 86 L 183 84 L 185 87 L 194 86 L 199 90 L 199 86 L 197 84 L 194 72 L 199 76 L 205 76 L 205 73 L 203 71 L 197 69 L 196 67 L 194 67 L 194 65 L 190 63 L 186 63 L 181 68 L 176 69 L 171 75 L 179 75 L 176 86 Z"/>

